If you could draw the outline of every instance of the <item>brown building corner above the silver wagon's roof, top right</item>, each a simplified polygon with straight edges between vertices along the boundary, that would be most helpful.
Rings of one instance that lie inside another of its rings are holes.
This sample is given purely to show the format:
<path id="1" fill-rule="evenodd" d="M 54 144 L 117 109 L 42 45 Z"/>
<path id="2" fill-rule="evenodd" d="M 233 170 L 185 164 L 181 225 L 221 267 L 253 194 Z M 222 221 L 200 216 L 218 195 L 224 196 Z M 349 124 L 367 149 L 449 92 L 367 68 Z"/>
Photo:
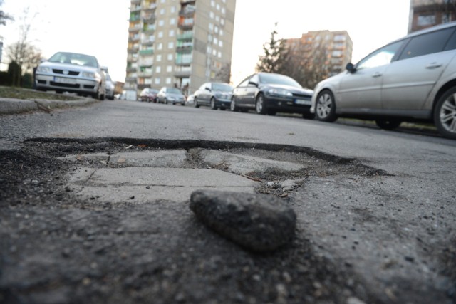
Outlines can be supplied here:
<path id="1" fill-rule="evenodd" d="M 456 20 L 456 0 L 410 0 L 408 33 Z"/>

